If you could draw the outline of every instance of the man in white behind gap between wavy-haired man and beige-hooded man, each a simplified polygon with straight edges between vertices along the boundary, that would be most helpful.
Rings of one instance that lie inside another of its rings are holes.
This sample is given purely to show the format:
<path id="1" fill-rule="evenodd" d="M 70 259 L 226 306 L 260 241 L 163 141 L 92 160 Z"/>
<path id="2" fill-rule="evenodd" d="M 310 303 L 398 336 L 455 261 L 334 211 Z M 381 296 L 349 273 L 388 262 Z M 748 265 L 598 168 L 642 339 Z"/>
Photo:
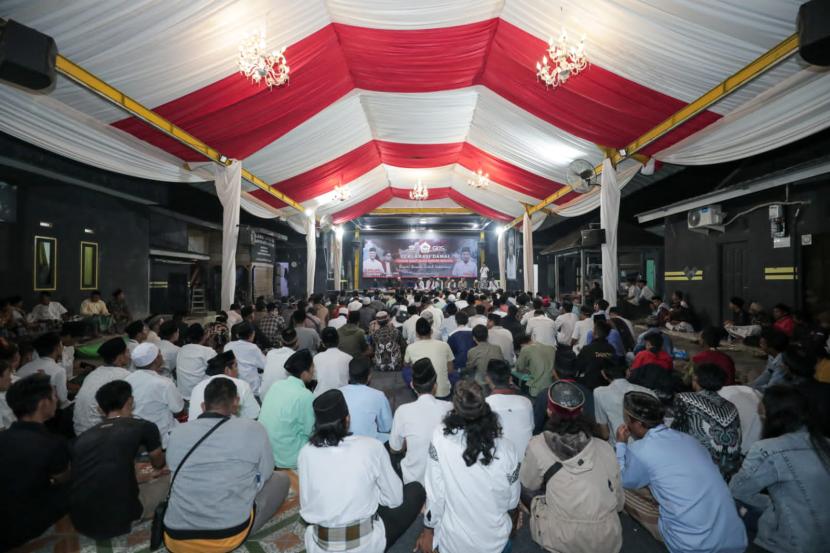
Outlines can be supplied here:
<path id="1" fill-rule="evenodd" d="M 499 415 L 502 435 L 523 459 L 533 436 L 533 403 L 510 385 L 510 367 L 504 361 L 492 360 L 487 365 L 487 385 L 492 390 L 487 403 Z"/>

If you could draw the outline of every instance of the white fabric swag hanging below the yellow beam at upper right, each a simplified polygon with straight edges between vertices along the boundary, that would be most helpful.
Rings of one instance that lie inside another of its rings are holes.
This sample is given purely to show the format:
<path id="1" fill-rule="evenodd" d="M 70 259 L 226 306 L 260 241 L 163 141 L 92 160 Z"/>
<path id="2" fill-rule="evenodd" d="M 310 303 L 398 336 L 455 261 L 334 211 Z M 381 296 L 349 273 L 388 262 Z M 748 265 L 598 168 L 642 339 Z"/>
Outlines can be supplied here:
<path id="1" fill-rule="evenodd" d="M 760 154 L 830 127 L 830 70 L 810 67 L 657 154 L 710 165 Z"/>

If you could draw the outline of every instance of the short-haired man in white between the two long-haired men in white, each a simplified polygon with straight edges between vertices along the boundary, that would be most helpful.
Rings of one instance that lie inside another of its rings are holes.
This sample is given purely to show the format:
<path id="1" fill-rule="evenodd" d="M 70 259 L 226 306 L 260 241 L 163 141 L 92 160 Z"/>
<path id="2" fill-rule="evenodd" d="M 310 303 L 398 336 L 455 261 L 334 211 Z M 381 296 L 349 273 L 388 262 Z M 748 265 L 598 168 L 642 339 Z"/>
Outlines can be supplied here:
<path id="1" fill-rule="evenodd" d="M 403 454 L 403 483 L 424 483 L 427 455 L 432 433 L 441 425 L 452 403 L 435 399 L 436 374 L 428 357 L 412 365 L 412 389 L 418 394 L 413 403 L 398 407 L 392 420 L 389 448 Z"/>

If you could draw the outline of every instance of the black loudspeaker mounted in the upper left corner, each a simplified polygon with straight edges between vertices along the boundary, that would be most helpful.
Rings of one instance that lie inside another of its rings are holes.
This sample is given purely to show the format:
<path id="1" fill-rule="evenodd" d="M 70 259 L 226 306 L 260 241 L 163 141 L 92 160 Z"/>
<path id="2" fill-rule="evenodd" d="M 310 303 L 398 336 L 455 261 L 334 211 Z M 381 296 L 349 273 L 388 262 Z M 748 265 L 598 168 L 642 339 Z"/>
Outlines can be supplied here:
<path id="1" fill-rule="evenodd" d="M 0 79 L 30 90 L 55 82 L 55 39 L 9 19 L 0 21 Z"/>

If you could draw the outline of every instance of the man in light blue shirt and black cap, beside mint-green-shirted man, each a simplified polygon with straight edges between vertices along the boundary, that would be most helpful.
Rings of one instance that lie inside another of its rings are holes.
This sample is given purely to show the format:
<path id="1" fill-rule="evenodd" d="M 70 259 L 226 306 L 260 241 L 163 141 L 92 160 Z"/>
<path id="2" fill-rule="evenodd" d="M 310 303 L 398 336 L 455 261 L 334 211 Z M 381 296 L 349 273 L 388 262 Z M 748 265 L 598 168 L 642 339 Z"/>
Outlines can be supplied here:
<path id="1" fill-rule="evenodd" d="M 386 394 L 369 387 L 372 380 L 372 361 L 357 357 L 349 363 L 349 384 L 340 388 L 349 406 L 349 430 L 358 436 L 389 441 L 392 430 L 392 409 Z"/>

